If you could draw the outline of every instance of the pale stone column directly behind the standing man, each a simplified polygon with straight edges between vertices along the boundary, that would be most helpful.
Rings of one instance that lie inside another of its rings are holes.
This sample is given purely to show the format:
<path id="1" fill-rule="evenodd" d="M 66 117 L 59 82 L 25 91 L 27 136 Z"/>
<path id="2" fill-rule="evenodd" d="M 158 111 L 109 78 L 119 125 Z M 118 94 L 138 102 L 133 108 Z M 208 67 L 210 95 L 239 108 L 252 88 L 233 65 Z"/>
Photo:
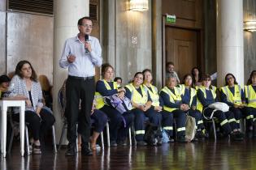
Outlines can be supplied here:
<path id="1" fill-rule="evenodd" d="M 58 103 L 58 92 L 67 79 L 67 70 L 59 67 L 59 58 L 67 38 L 76 36 L 78 19 L 89 16 L 89 0 L 54 0 L 54 116 L 56 119 L 56 139 L 59 142 L 63 120 Z M 66 138 L 66 134 L 65 134 Z"/>

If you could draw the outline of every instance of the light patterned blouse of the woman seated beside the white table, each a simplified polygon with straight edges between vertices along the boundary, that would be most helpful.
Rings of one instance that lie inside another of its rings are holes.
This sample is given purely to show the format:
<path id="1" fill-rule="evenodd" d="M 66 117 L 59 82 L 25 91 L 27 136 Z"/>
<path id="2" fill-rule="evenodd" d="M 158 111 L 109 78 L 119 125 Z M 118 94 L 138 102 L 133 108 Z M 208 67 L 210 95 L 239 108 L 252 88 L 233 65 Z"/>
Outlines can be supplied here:
<path id="1" fill-rule="evenodd" d="M 8 96 L 18 96 L 18 95 L 26 96 L 29 99 L 29 93 L 28 93 L 28 89 L 26 87 L 26 83 L 24 79 L 20 78 L 19 75 L 15 75 L 11 79 Z M 42 103 L 43 97 L 42 97 L 41 85 L 39 82 L 32 81 L 31 96 L 32 96 L 33 107 L 26 106 L 25 110 L 31 110 L 35 112 L 37 107 L 39 108 L 43 107 L 43 103 Z"/>

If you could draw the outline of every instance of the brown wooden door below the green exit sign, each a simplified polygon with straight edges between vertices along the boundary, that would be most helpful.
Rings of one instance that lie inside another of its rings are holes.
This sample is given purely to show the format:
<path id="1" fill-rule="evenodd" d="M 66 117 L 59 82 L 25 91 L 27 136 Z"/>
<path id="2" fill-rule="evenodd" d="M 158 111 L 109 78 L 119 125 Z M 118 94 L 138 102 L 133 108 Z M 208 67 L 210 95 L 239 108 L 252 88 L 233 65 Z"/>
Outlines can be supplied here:
<path id="1" fill-rule="evenodd" d="M 190 74 L 192 68 L 197 66 L 197 36 L 197 31 L 169 26 L 165 28 L 165 61 L 174 63 L 181 83 L 184 75 Z"/>

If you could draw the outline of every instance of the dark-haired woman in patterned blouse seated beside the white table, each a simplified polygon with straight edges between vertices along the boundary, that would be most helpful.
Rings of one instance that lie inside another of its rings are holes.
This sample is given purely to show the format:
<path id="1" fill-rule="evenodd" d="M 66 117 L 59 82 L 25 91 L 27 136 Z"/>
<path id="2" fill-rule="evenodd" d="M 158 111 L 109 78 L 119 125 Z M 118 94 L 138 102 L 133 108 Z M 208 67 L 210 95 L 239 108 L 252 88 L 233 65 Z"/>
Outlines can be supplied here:
<path id="1" fill-rule="evenodd" d="M 33 154 L 41 154 L 41 142 L 46 130 L 54 125 L 54 115 L 42 108 L 42 92 L 37 74 L 28 61 L 20 61 L 15 68 L 15 76 L 11 79 L 9 96 L 24 96 L 26 100 L 25 121 L 33 135 Z M 18 112 L 17 112 L 18 111 Z M 13 119 L 20 120 L 19 110 L 15 111 Z"/>

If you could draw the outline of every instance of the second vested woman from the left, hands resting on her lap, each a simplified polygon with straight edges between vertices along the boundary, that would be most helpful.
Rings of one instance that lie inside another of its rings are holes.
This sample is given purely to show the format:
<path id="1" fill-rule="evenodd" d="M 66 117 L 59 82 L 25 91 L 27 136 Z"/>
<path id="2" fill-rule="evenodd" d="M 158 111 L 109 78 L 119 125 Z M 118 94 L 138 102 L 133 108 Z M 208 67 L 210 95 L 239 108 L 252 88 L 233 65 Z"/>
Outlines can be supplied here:
<path id="1" fill-rule="evenodd" d="M 150 122 L 154 125 L 159 125 L 161 121 L 161 115 L 152 112 L 151 104 L 152 100 L 149 95 L 149 91 L 142 85 L 143 74 L 137 72 L 134 75 L 132 83 L 125 86 L 126 94 L 132 101 L 132 113 L 134 114 L 134 129 L 137 145 L 145 146 L 144 134 L 145 134 L 145 118 L 149 117 Z M 154 110 L 153 110 L 154 111 Z"/>

